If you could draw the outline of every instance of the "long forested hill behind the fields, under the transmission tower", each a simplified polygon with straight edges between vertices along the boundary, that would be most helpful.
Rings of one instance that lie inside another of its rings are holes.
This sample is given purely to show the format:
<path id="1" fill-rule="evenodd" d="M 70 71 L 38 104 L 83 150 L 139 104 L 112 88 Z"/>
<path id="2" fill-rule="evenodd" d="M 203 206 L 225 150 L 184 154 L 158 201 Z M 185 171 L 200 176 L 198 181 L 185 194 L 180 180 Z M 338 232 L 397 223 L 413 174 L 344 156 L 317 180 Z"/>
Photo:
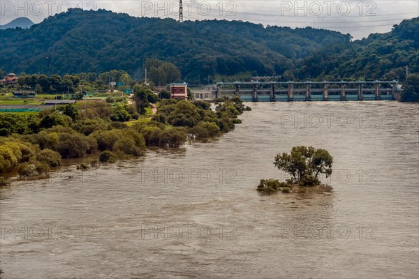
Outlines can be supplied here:
<path id="1" fill-rule="evenodd" d="M 186 80 L 207 75 L 281 75 L 315 50 L 348 43 L 350 35 L 323 29 L 263 27 L 237 21 L 131 17 L 107 10 L 71 9 L 30 29 L 0 31 L 1 70 L 13 73 L 121 69 L 138 77 L 146 57 L 175 63 Z"/>

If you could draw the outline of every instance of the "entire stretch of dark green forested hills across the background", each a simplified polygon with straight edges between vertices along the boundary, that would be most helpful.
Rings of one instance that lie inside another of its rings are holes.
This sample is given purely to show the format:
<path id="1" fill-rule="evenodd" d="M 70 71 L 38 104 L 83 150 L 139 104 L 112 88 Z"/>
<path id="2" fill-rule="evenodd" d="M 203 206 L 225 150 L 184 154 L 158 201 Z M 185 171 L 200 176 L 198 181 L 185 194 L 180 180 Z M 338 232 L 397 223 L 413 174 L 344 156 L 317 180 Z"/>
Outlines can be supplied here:
<path id="1" fill-rule="evenodd" d="M 0 70 L 68 75 L 120 69 L 138 80 L 149 58 L 176 66 L 180 76 L 175 77 L 191 83 L 235 75 L 276 75 L 282 81 L 405 80 L 406 66 L 410 73 L 419 71 L 418 30 L 416 17 L 388 33 L 352 41 L 349 34 L 311 27 L 226 20 L 181 23 L 71 9 L 30 29 L 1 30 Z M 164 84 L 168 78 L 158 68 L 147 70 Z"/>

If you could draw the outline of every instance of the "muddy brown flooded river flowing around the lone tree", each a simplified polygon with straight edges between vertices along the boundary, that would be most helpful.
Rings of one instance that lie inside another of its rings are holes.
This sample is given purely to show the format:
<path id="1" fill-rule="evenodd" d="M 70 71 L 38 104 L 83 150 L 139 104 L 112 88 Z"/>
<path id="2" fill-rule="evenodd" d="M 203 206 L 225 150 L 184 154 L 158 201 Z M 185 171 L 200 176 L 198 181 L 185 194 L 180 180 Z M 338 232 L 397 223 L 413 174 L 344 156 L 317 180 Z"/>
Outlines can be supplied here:
<path id="1" fill-rule="evenodd" d="M 418 105 L 248 105 L 211 142 L 1 188 L 3 278 L 418 278 Z M 296 145 L 333 192 L 260 195 Z"/>

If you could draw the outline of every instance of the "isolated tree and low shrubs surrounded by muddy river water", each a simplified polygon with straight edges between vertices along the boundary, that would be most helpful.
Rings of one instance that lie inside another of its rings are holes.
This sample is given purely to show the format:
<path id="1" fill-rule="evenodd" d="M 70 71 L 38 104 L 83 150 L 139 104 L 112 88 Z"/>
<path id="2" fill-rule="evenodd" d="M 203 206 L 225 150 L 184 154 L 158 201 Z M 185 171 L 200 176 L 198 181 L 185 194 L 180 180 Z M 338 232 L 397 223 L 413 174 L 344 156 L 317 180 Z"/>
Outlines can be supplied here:
<path id="1" fill-rule="evenodd" d="M 294 146 L 291 153 L 278 153 L 274 165 L 290 175 L 286 182 L 278 179 L 261 179 L 257 190 L 262 193 L 293 193 L 298 187 L 320 186 L 320 174 L 332 174 L 333 158 L 325 149 L 313 146 Z M 325 186 L 322 186 L 325 187 Z"/>

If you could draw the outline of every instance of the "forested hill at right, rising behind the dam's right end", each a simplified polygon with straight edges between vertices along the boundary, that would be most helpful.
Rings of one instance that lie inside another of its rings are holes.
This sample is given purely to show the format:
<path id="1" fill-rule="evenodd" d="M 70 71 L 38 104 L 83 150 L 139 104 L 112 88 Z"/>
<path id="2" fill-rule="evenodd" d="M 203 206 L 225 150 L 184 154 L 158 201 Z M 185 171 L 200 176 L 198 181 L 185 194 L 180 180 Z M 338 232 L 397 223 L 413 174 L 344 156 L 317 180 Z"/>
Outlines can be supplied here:
<path id="1" fill-rule="evenodd" d="M 404 80 L 406 66 L 409 73 L 419 73 L 419 17 L 404 20 L 388 33 L 323 47 L 301 62 L 295 70 L 301 80 Z"/>

